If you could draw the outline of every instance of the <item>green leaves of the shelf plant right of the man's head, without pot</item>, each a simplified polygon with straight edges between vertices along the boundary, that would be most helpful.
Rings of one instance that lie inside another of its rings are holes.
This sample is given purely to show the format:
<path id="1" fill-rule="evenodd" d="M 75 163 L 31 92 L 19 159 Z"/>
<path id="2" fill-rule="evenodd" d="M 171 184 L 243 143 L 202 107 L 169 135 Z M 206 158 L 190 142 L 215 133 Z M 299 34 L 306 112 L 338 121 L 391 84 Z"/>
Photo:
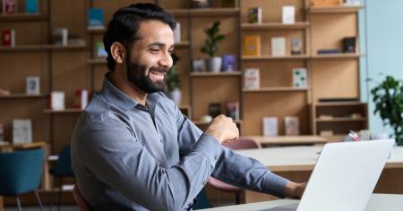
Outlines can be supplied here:
<path id="1" fill-rule="evenodd" d="M 213 23 L 210 28 L 204 30 L 207 38 L 204 46 L 201 47 L 201 53 L 214 57 L 219 51 L 219 41 L 225 38 L 224 35 L 219 34 L 219 21 Z"/>

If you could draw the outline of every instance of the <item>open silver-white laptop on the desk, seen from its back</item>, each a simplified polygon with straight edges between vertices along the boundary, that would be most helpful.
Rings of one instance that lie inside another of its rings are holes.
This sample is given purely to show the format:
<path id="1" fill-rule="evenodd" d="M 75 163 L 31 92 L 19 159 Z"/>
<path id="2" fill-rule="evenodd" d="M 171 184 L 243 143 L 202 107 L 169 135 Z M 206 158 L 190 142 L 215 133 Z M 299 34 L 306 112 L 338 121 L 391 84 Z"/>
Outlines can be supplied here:
<path id="1" fill-rule="evenodd" d="M 394 143 L 382 139 L 326 144 L 300 202 L 264 211 L 364 210 Z"/>

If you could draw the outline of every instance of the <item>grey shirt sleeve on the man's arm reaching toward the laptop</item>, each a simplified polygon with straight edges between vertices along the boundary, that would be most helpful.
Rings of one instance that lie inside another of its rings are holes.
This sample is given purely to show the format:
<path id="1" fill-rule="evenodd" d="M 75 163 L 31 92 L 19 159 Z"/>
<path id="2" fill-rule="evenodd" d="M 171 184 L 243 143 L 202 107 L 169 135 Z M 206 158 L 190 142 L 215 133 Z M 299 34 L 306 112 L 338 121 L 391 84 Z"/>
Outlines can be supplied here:
<path id="1" fill-rule="evenodd" d="M 176 108 L 178 124 L 178 142 L 181 155 L 186 155 L 198 142 L 198 137 L 205 135 Z M 236 154 L 232 149 L 222 148 L 219 161 L 212 176 L 220 181 L 247 190 L 268 193 L 279 198 L 285 197 L 287 179 L 271 173 L 268 167 L 259 161 Z"/>

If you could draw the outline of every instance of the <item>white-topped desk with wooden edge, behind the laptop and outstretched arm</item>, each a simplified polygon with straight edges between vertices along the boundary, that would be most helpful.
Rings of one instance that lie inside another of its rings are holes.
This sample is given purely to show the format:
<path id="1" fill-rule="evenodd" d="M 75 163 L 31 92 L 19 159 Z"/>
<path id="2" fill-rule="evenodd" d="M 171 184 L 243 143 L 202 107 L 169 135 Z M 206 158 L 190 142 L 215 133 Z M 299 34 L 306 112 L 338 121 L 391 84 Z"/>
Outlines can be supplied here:
<path id="1" fill-rule="evenodd" d="M 319 156 L 317 153 L 321 149 L 321 146 L 306 146 L 246 149 L 236 152 L 260 161 L 263 165 L 268 166 L 271 172 L 278 173 L 291 181 L 308 181 Z M 387 161 L 374 192 L 403 194 L 403 180 L 401 178 L 403 178 L 403 147 L 396 147 L 393 148 L 392 156 Z M 278 198 L 245 190 L 244 202 L 246 203 L 270 199 Z"/>

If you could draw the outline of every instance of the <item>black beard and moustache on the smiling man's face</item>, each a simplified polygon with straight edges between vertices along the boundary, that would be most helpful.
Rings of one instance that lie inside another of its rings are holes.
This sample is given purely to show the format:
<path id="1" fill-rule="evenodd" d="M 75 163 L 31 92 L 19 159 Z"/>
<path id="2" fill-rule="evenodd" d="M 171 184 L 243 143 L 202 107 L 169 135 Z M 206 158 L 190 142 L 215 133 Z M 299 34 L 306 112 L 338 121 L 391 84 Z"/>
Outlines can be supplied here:
<path id="1" fill-rule="evenodd" d="M 146 75 L 147 67 L 138 63 L 130 61 L 129 56 L 126 59 L 126 75 L 127 80 L 132 82 L 136 87 L 145 93 L 154 93 L 165 90 L 165 83 L 163 80 L 154 82 L 150 79 L 150 72 L 167 72 L 166 68 L 150 68 L 149 73 Z"/>

